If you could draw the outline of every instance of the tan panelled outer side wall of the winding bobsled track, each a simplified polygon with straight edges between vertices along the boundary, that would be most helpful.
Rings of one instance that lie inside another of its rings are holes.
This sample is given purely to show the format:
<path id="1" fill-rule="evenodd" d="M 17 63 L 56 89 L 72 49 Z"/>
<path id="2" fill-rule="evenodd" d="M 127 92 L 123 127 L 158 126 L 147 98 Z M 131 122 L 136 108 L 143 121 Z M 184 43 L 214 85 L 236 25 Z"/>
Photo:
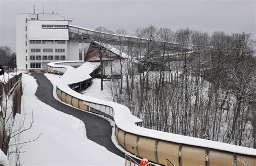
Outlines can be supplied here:
<path id="1" fill-rule="evenodd" d="M 48 66 L 47 69 L 49 73 L 55 73 L 52 67 Z M 67 104 L 113 119 L 114 110 L 109 106 L 77 99 L 58 88 L 56 92 L 59 99 Z M 118 126 L 114 134 L 119 145 L 130 153 L 163 165 L 166 164 L 166 158 L 175 165 L 256 165 L 256 156 L 232 153 L 228 149 L 224 151 L 148 138 L 123 131 Z"/>

